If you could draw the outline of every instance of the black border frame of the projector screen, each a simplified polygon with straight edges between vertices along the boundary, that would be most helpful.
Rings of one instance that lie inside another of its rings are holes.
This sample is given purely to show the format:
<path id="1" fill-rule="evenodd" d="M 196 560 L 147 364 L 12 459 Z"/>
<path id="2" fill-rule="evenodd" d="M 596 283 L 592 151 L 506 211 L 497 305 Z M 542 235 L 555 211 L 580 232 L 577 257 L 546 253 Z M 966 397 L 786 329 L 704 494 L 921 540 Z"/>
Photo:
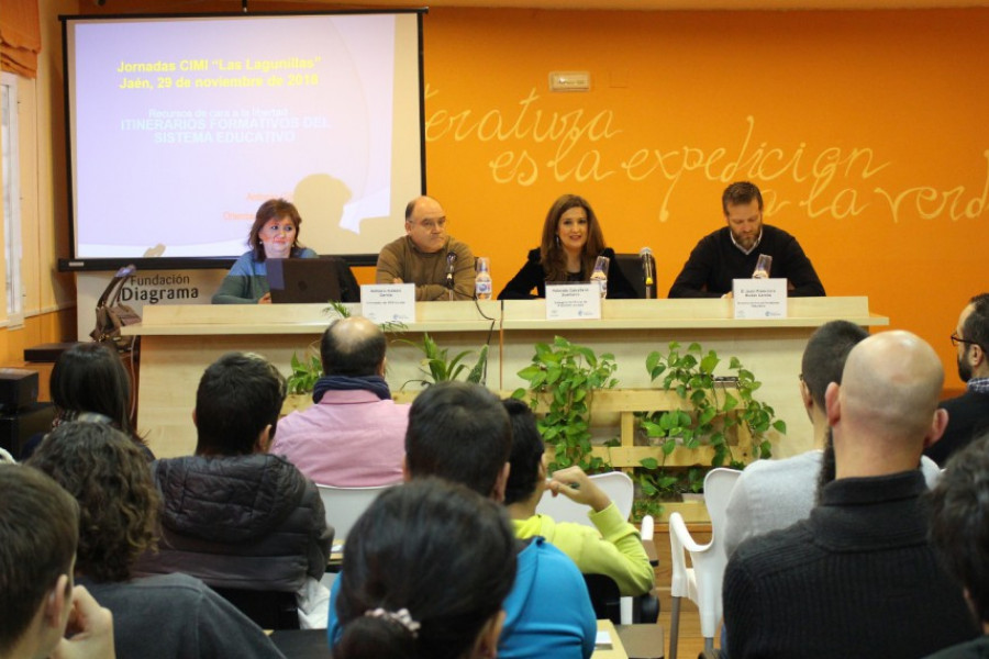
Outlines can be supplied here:
<path id="1" fill-rule="evenodd" d="M 175 13 L 175 14 L 59 14 L 62 23 L 63 43 L 63 96 L 65 116 L 65 156 L 66 156 L 66 203 L 68 221 L 68 249 L 70 256 L 59 258 L 58 271 L 111 271 L 126 265 L 135 265 L 138 269 L 147 270 L 197 270 L 197 269 L 227 269 L 236 260 L 236 256 L 160 256 L 160 257 L 78 257 L 76 255 L 76 220 L 75 220 L 75 183 L 73 171 L 73 132 L 71 132 L 71 97 L 69 93 L 69 52 L 68 30 L 71 21 L 110 22 L 120 20 L 187 20 L 187 19 L 236 19 L 236 18 L 301 18 L 326 15 L 366 15 L 366 14 L 414 14 L 416 30 L 416 58 L 419 76 L 419 153 L 420 153 L 420 193 L 426 193 L 426 149 L 425 149 L 425 82 L 424 82 L 424 54 L 423 54 L 423 16 L 429 13 L 429 8 L 393 8 L 393 9 L 347 9 L 326 11 L 264 11 L 264 12 L 208 12 L 208 13 Z M 304 241 L 303 241 L 304 242 Z M 246 249 L 246 245 L 245 245 Z M 377 253 L 370 254 L 335 254 L 348 266 L 374 266 L 377 263 Z"/>

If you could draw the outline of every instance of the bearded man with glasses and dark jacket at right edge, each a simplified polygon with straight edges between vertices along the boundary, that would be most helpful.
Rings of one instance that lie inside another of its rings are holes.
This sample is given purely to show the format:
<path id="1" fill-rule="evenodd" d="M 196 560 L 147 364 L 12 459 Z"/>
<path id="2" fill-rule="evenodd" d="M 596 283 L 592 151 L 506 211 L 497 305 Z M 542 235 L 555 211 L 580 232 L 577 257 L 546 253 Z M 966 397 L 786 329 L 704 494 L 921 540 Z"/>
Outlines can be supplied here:
<path id="1" fill-rule="evenodd" d="M 942 467 L 952 454 L 989 429 L 989 293 L 976 295 L 962 310 L 952 344 L 958 350 L 958 377 L 966 383 L 965 393 L 941 403 L 947 410 L 948 426 L 941 442 L 924 451 Z"/>

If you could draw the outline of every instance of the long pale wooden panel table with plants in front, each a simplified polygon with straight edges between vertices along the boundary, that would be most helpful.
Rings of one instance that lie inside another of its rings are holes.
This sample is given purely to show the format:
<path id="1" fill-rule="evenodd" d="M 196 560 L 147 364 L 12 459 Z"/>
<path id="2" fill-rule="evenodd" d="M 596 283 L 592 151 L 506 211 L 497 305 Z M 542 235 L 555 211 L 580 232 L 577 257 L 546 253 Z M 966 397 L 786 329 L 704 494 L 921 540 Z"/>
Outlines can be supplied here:
<path id="1" fill-rule="evenodd" d="M 737 357 L 763 382 L 762 400 L 789 426 L 774 446 L 774 455 L 786 457 L 811 444 L 797 387 L 810 334 L 835 319 L 889 324 L 869 311 L 867 298 L 793 298 L 788 305 L 786 319 L 742 321 L 732 317 L 727 300 L 604 300 L 600 320 L 547 321 L 542 300 L 420 302 L 416 322 L 390 334 L 386 377 L 393 391 L 421 388 L 422 353 L 414 344 L 429 333 L 451 357 L 471 351 L 470 364 L 488 343 L 487 386 L 511 391 L 525 384 L 518 371 L 530 364 L 534 344 L 559 335 L 599 355 L 612 353 L 621 387 L 641 389 L 652 384 L 649 351 L 665 351 L 671 340 L 698 342 L 725 364 Z M 320 336 L 334 317 L 324 304 L 146 306 L 142 323 L 123 330 L 141 337 L 138 431 L 159 457 L 191 454 L 196 388 L 207 366 L 224 353 L 249 350 L 288 375 L 293 354 L 319 354 Z"/>

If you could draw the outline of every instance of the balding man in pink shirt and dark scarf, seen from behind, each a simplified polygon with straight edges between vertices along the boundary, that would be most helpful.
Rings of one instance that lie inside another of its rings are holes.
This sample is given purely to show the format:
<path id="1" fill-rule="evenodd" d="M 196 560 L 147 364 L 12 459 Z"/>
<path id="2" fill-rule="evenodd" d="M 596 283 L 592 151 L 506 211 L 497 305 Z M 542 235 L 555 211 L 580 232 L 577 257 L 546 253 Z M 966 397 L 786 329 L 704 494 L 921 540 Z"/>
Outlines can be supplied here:
<path id="1" fill-rule="evenodd" d="M 313 405 L 278 422 L 271 453 L 313 481 L 338 488 L 402 479 L 409 405 L 397 404 L 385 381 L 387 342 L 363 316 L 341 319 L 323 333 L 323 377 Z"/>

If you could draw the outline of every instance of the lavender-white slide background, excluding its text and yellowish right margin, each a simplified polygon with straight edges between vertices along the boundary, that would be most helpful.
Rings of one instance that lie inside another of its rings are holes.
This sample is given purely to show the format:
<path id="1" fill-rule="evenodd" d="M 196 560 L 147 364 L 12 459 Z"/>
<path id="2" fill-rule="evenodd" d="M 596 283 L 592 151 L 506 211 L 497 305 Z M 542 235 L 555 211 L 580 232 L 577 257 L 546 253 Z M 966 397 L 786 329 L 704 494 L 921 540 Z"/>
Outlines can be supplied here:
<path id="1" fill-rule="evenodd" d="M 314 174 L 343 181 L 352 200 L 377 193 L 370 210 L 387 215 L 380 191 L 391 176 L 393 41 L 395 18 L 387 14 L 76 24 L 76 256 L 140 257 L 157 244 L 167 256 L 241 254 L 260 202 L 290 199 Z M 215 62 L 246 68 L 248 60 L 293 57 L 319 62 L 267 72 L 222 70 Z M 193 60 L 207 60 L 208 70 L 180 70 Z M 124 62 L 174 63 L 176 70 L 120 72 Z M 285 83 L 195 86 L 242 75 Z M 290 86 L 293 75 L 315 75 L 318 83 Z M 192 86 L 176 87 L 180 77 Z M 173 86 L 158 88 L 159 78 Z M 124 79 L 146 79 L 152 88 L 121 89 Z M 159 118 L 181 119 L 166 129 L 125 127 L 152 112 L 190 116 Z M 224 113 L 248 120 L 278 113 L 276 121 L 287 123 L 230 127 Z M 222 143 L 231 133 L 266 141 Z M 211 142 L 179 141 L 205 136 Z"/>

